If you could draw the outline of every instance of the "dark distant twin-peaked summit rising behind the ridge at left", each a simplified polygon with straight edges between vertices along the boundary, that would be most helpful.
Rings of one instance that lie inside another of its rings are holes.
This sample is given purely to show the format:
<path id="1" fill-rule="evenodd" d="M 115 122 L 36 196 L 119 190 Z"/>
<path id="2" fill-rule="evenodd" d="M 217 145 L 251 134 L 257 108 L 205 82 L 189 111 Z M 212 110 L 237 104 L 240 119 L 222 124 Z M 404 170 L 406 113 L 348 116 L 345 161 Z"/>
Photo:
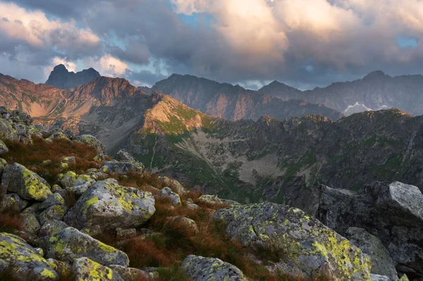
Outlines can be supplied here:
<path id="1" fill-rule="evenodd" d="M 58 89 L 71 89 L 100 77 L 94 68 L 82 70 L 78 73 L 69 72 L 63 64 L 56 65 L 49 75 L 46 84 Z"/>

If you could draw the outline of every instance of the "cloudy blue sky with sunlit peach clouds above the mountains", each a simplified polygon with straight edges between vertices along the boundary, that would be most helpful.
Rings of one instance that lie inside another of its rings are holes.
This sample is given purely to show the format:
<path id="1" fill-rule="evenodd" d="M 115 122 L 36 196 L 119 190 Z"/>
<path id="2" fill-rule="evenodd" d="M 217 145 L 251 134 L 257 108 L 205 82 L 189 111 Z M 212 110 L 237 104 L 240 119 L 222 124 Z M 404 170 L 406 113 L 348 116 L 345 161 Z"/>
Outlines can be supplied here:
<path id="1" fill-rule="evenodd" d="M 423 0 L 0 0 L 0 73 L 95 68 L 152 86 L 172 73 L 257 89 L 423 73 Z"/>

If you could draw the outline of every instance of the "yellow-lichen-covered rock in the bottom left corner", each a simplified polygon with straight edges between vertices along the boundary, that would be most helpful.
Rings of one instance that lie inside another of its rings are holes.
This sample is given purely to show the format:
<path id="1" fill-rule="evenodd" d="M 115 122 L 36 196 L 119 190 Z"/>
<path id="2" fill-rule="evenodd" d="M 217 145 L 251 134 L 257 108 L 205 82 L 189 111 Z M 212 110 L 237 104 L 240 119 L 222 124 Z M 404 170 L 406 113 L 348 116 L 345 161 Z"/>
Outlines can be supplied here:
<path id="1" fill-rule="evenodd" d="M 25 240 L 0 233 L 0 272 L 8 267 L 18 280 L 59 280 L 56 271 Z"/>

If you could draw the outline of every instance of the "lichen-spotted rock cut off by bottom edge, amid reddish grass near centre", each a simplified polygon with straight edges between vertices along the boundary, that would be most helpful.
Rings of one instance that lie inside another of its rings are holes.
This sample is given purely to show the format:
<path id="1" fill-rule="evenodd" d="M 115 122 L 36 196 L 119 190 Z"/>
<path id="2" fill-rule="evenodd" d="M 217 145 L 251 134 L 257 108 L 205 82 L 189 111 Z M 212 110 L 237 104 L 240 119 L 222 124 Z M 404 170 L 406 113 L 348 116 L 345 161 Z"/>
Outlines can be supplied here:
<path id="1" fill-rule="evenodd" d="M 219 258 L 190 255 L 185 258 L 180 268 L 194 281 L 247 281 L 247 277 L 239 268 Z"/>

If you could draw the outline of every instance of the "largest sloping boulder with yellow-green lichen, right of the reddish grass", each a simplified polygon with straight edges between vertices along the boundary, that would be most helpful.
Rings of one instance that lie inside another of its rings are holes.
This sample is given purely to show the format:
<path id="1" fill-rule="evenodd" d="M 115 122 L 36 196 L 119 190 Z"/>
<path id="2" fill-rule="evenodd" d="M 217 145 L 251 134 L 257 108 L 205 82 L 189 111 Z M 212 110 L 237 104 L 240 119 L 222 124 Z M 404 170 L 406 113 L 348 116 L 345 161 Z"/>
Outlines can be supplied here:
<path id="1" fill-rule="evenodd" d="M 250 204 L 221 209 L 214 218 L 226 223 L 226 232 L 244 246 L 261 245 L 279 254 L 277 268 L 293 277 L 369 279 L 367 255 L 297 208 Z"/>

